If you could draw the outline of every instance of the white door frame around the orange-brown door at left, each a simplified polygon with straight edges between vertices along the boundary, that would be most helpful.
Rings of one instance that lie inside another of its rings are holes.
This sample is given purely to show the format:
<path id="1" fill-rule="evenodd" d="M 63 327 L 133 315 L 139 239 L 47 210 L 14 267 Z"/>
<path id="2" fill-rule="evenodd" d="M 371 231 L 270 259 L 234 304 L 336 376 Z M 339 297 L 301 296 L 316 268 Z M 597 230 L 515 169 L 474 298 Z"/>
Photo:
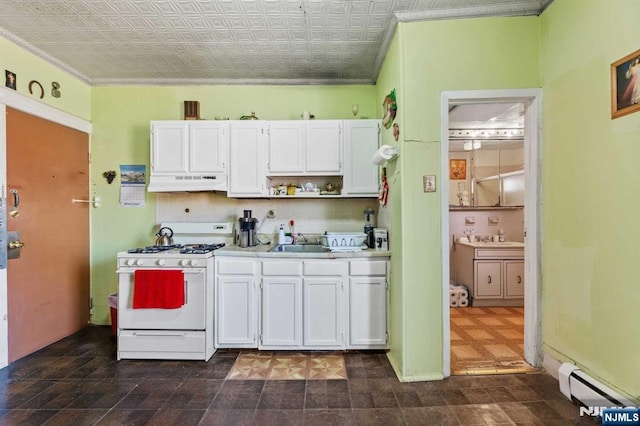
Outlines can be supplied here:
<path id="1" fill-rule="evenodd" d="M 79 130 L 91 136 L 91 122 L 35 101 L 15 90 L 0 87 L 0 191 L 7 197 L 7 107 Z M 7 217 L 0 218 L 5 223 Z M 9 363 L 9 323 L 7 313 L 7 270 L 0 269 L 0 368 Z"/>

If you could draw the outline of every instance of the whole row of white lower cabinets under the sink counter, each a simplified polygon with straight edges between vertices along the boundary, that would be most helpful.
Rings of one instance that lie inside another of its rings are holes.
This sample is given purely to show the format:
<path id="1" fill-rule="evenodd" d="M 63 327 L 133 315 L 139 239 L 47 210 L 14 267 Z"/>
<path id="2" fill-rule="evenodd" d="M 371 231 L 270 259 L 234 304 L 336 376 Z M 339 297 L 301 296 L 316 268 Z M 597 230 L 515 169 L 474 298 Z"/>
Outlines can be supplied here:
<path id="1" fill-rule="evenodd" d="M 385 349 L 388 258 L 375 259 L 218 256 L 217 347 Z"/>

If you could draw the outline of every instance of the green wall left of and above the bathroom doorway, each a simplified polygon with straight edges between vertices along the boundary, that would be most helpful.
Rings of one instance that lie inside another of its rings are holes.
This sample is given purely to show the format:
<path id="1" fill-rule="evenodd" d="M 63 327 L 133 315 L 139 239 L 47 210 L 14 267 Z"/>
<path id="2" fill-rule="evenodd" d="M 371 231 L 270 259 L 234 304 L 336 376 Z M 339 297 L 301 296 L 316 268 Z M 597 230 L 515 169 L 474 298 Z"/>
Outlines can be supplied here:
<path id="1" fill-rule="evenodd" d="M 392 330 L 400 328 L 402 341 L 391 354 L 403 380 L 434 379 L 443 370 L 441 206 L 439 192 L 423 192 L 422 177 L 441 181 L 441 92 L 540 87 L 539 18 L 402 23 L 396 39 L 400 52 L 384 64 L 401 76 L 389 72 L 401 88 L 399 199 L 391 215 L 393 230 L 403 231 L 392 238 Z"/>

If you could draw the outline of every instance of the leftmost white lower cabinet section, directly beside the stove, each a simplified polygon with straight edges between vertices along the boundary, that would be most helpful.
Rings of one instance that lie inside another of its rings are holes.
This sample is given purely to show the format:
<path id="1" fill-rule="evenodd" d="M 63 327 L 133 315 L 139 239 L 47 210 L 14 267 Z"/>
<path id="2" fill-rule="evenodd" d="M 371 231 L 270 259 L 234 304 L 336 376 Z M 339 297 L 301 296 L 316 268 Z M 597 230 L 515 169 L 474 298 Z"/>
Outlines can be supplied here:
<path id="1" fill-rule="evenodd" d="M 254 259 L 215 259 L 216 347 L 257 347 L 258 267 Z"/>

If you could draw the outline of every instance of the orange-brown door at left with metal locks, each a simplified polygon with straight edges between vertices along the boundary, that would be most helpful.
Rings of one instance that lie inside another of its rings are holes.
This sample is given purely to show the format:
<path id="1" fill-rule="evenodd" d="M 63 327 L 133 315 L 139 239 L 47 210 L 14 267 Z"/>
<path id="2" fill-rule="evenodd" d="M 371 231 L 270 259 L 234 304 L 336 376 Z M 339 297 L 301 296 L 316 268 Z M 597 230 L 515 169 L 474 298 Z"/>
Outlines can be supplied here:
<path id="1" fill-rule="evenodd" d="M 7 262 L 9 362 L 89 321 L 89 136 L 7 108 L 9 231 L 20 232 Z"/>

